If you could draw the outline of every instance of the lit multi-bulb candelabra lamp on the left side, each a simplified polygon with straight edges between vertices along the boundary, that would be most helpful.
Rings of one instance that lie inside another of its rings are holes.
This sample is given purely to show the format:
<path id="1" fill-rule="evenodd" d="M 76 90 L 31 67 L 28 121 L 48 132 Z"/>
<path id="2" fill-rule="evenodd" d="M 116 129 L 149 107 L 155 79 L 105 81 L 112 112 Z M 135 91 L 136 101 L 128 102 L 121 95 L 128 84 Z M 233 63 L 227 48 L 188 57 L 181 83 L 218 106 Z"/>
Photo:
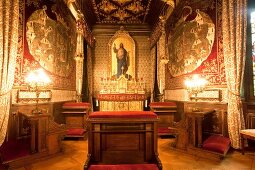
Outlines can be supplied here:
<path id="1" fill-rule="evenodd" d="M 28 90 L 36 93 L 36 108 L 32 110 L 33 114 L 41 114 L 42 110 L 38 108 L 39 95 L 41 88 L 46 87 L 51 83 L 48 75 L 43 71 L 43 69 L 38 69 L 31 71 L 27 74 L 25 82 L 28 84 Z"/>

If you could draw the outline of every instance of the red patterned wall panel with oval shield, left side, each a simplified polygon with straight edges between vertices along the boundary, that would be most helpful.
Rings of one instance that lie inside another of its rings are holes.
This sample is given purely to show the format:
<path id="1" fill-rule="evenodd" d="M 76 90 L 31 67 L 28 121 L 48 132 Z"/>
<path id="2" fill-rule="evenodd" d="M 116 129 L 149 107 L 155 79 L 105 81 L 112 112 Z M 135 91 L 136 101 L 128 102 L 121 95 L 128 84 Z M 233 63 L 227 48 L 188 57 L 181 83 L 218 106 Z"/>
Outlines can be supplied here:
<path id="1" fill-rule="evenodd" d="M 43 68 L 54 89 L 75 90 L 75 50 L 76 22 L 63 1 L 20 1 L 16 87 L 26 85 L 28 72 Z"/>

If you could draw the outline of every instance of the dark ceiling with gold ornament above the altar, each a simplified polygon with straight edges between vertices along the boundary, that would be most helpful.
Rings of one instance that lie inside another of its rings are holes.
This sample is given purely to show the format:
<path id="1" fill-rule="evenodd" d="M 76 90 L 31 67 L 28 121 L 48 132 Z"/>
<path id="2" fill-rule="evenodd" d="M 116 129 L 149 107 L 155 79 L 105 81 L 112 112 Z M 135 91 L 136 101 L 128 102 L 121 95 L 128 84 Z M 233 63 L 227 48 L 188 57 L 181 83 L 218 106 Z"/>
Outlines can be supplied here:
<path id="1" fill-rule="evenodd" d="M 91 26 L 95 24 L 153 26 L 165 7 L 166 2 L 162 0 L 84 0 L 82 2 L 82 11 Z"/>

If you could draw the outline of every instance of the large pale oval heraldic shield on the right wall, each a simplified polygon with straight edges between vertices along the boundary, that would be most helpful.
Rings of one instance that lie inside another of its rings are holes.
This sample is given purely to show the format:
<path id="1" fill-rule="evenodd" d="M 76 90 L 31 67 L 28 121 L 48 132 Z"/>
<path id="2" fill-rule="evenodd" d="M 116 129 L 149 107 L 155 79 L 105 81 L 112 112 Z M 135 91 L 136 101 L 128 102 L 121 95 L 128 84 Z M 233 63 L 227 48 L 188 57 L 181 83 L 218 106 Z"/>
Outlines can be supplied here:
<path id="1" fill-rule="evenodd" d="M 186 21 L 192 8 L 184 7 L 183 15 L 176 23 L 174 32 L 169 36 L 169 65 L 173 77 L 190 73 L 197 69 L 211 53 L 215 25 L 204 12 L 196 10 L 196 17 Z"/>

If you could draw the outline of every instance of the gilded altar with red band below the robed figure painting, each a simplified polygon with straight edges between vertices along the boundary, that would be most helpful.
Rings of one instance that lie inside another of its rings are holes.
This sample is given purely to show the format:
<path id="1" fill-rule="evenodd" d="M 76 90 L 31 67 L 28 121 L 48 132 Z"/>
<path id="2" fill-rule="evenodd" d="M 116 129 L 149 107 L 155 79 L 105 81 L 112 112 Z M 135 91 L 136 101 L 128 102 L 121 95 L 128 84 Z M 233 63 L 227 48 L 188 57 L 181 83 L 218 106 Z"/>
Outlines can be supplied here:
<path id="1" fill-rule="evenodd" d="M 129 79 L 124 75 L 103 79 L 97 100 L 100 111 L 142 111 L 147 105 L 145 83 L 142 78 Z"/>

